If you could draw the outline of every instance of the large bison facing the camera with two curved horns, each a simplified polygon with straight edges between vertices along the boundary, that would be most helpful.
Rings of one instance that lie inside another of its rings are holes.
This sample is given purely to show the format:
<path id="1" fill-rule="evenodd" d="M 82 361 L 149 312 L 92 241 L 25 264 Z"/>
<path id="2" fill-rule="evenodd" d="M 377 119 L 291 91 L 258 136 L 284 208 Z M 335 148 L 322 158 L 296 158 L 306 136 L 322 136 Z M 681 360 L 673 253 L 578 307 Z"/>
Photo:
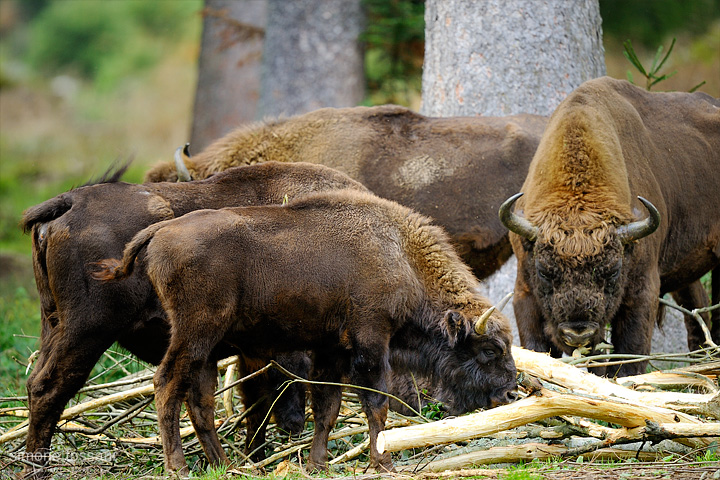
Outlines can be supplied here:
<path id="1" fill-rule="evenodd" d="M 649 93 L 607 77 L 560 104 L 524 196 L 500 210 L 514 232 L 525 347 L 570 353 L 603 341 L 609 323 L 616 353 L 648 354 L 660 295 L 707 302 L 698 279 L 720 257 L 718 106 L 705 94 Z"/>

